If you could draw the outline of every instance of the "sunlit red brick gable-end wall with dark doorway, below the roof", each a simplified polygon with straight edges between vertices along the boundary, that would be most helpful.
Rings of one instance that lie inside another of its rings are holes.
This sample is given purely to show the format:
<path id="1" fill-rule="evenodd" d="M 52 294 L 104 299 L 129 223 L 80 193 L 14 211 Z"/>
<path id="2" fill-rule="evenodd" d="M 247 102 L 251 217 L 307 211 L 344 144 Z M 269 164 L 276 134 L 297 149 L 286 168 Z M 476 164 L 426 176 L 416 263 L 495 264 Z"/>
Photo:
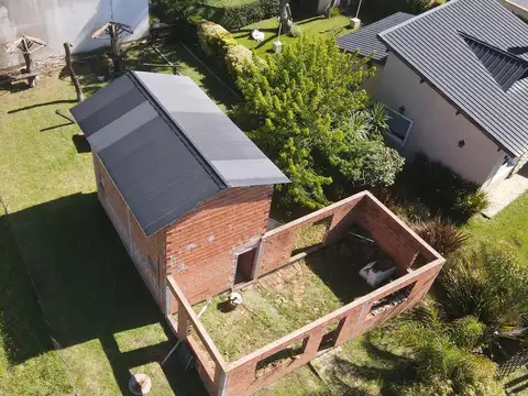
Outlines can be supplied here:
<path id="1" fill-rule="evenodd" d="M 266 230 L 272 193 L 271 186 L 226 189 L 167 229 L 167 275 L 190 304 L 232 286 L 237 252 L 256 245 Z"/>

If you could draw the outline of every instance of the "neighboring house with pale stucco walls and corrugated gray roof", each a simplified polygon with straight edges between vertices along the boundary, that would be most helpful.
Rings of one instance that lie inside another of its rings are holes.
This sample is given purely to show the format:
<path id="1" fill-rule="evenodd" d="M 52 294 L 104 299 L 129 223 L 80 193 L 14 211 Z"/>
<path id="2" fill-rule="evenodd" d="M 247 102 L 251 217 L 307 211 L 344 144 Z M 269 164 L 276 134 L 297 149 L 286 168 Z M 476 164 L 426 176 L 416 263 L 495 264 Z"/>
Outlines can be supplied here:
<path id="1" fill-rule="evenodd" d="M 372 35 L 353 44 L 365 29 L 338 43 L 369 53 Z M 392 136 L 404 154 L 421 151 L 485 188 L 524 165 L 527 24 L 495 0 L 452 0 L 376 37 L 387 56 L 372 94 L 409 120 Z"/>

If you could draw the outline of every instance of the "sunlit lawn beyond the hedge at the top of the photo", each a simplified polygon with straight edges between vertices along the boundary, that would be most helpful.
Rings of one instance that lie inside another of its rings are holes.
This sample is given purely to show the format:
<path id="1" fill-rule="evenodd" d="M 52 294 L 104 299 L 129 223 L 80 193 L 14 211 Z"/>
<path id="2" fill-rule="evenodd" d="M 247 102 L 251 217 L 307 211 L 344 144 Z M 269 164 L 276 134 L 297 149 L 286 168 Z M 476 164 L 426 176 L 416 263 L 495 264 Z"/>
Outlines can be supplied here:
<path id="1" fill-rule="evenodd" d="M 302 33 L 309 36 L 329 35 L 338 37 L 352 32 L 352 29 L 350 28 L 350 18 L 344 15 L 332 16 L 330 19 L 315 16 L 302 21 L 294 21 L 294 23 L 298 24 L 302 29 Z M 251 31 L 254 29 L 264 32 L 265 38 L 263 42 L 257 43 L 251 37 Z M 240 44 L 245 45 L 250 50 L 254 50 L 260 55 L 264 55 L 273 52 L 273 42 L 277 41 L 277 32 L 278 20 L 277 18 L 271 18 L 244 26 L 240 31 L 233 32 L 233 35 Z M 297 38 L 284 34 L 280 35 L 280 42 L 283 45 L 292 44 L 295 40 Z"/>

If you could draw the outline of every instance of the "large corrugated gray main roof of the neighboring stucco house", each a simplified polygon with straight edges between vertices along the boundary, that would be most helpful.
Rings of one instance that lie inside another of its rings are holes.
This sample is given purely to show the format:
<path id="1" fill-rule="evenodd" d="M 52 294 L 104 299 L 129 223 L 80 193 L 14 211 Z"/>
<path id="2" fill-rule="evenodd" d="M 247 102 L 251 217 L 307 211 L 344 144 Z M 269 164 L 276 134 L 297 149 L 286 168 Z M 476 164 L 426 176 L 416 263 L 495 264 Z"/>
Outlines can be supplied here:
<path id="1" fill-rule="evenodd" d="M 528 59 L 528 25 L 495 0 L 451 0 L 380 38 L 498 146 L 514 156 L 524 154 L 528 79 L 504 90 L 461 32 Z"/>

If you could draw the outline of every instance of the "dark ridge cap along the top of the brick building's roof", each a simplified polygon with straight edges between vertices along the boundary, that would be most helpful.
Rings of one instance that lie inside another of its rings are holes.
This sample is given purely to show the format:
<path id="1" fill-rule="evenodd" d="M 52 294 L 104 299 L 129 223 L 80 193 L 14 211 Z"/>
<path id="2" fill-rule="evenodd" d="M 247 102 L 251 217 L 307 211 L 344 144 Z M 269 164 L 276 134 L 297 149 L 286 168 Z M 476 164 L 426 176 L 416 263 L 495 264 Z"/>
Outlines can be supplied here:
<path id="1" fill-rule="evenodd" d="M 139 78 L 134 70 L 127 73 L 131 81 L 140 89 L 144 97 L 148 100 L 152 107 L 157 111 L 157 113 L 164 119 L 167 125 L 175 132 L 175 134 L 182 140 L 182 142 L 187 146 L 189 152 L 198 160 L 200 165 L 204 166 L 206 172 L 213 178 L 215 183 L 220 188 L 229 187 L 229 183 L 223 178 L 223 176 L 218 172 L 218 169 L 211 164 L 207 155 L 197 146 L 193 139 L 185 133 L 182 125 L 170 116 L 168 110 L 157 100 L 154 94 L 148 89 L 148 87 L 143 84 L 141 78 Z M 187 77 L 188 78 L 188 77 Z M 176 128 L 174 128 L 176 127 Z"/>

